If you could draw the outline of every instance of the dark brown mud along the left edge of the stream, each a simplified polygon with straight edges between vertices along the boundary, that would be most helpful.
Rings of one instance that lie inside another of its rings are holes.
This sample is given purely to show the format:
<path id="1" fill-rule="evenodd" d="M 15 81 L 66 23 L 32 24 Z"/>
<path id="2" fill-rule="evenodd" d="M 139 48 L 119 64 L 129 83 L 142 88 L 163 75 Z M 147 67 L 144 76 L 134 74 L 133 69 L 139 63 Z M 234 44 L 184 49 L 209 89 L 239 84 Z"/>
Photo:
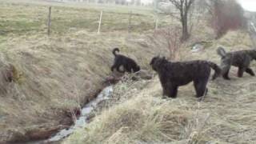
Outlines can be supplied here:
<path id="1" fill-rule="evenodd" d="M 106 85 L 102 85 L 104 87 Z M 86 104 L 90 103 L 91 101 L 94 102 L 94 99 L 97 99 L 98 94 L 103 90 L 99 89 L 94 94 L 91 94 L 90 97 L 85 97 L 82 106 L 86 106 Z M 38 126 L 36 128 L 31 128 L 30 130 L 26 130 L 26 132 L 20 132 L 20 131 L 10 131 L 10 136 L 8 140 L 6 141 L 0 141 L 0 143 L 56 143 L 61 138 L 56 140 L 50 139 L 55 134 L 58 134 L 60 130 L 68 130 L 70 129 L 70 126 L 74 125 L 74 117 L 79 118 L 83 111 L 80 108 L 74 108 L 74 110 L 66 110 L 66 111 L 60 111 L 58 114 L 58 126 Z M 62 138 L 65 138 L 68 134 L 63 136 Z M 49 139 L 49 141 L 46 141 L 46 139 Z"/>

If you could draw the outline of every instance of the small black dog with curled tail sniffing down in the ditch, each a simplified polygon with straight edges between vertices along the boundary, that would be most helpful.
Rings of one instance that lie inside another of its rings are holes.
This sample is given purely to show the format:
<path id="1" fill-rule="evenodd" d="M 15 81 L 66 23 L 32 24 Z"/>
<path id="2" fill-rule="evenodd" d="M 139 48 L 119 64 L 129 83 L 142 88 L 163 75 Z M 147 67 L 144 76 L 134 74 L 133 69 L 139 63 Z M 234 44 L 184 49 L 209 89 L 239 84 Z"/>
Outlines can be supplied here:
<path id="1" fill-rule="evenodd" d="M 133 59 L 128 58 L 122 54 L 116 54 L 117 51 L 119 52 L 118 48 L 114 48 L 114 50 L 112 51 L 112 53 L 114 54 L 114 65 L 111 66 L 111 71 L 114 71 L 114 69 L 116 69 L 120 73 L 135 73 L 140 70 L 140 66 L 138 66 Z M 124 70 L 120 70 L 120 66 L 123 66 Z"/>

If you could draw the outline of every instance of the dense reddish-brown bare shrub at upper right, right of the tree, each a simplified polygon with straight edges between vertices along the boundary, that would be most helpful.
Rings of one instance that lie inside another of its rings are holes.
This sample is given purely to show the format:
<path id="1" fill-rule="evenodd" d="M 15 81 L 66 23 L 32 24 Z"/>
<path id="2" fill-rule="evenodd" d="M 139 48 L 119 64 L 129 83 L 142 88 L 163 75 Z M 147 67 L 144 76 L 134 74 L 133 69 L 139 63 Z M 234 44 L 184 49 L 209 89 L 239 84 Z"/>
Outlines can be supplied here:
<path id="1" fill-rule="evenodd" d="M 210 25 L 214 28 L 216 38 L 221 38 L 228 30 L 237 30 L 246 26 L 242 6 L 234 0 L 212 1 Z"/>

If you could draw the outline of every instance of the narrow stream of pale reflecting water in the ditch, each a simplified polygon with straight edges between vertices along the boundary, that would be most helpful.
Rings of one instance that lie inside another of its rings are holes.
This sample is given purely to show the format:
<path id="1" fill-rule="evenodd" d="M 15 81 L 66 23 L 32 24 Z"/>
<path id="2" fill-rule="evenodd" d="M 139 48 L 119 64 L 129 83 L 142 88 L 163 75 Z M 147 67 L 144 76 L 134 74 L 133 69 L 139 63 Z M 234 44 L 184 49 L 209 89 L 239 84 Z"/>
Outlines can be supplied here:
<path id="1" fill-rule="evenodd" d="M 109 98 L 110 94 L 113 91 L 113 86 L 107 86 L 105 89 L 102 90 L 100 94 L 93 101 L 90 101 L 86 104 L 81 110 L 81 116 L 74 122 L 73 126 L 70 126 L 68 129 L 60 130 L 57 134 L 53 137 L 45 140 L 44 143 L 47 142 L 58 142 L 63 138 L 68 137 L 70 134 L 74 132 L 74 130 L 86 125 L 86 119 L 90 116 L 90 113 L 98 106 L 99 102 L 106 100 Z"/>

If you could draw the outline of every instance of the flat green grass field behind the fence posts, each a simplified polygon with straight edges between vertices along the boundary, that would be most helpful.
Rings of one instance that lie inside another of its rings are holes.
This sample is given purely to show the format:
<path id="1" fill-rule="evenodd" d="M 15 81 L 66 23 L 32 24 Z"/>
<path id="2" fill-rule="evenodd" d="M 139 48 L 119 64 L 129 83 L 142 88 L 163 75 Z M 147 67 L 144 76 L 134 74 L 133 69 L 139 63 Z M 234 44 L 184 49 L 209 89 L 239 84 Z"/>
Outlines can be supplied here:
<path id="1" fill-rule="evenodd" d="M 46 33 L 49 6 L 1 1 L 0 6 L 0 34 Z M 103 10 L 102 32 L 127 31 L 130 11 L 132 11 L 132 32 L 142 33 L 147 30 L 154 30 L 154 11 L 149 8 L 55 4 L 52 7 L 51 31 L 57 35 L 68 34 L 70 30 L 97 32 L 101 10 Z M 168 18 L 166 21 L 162 21 L 160 25 L 167 26 L 167 21 Z"/>

